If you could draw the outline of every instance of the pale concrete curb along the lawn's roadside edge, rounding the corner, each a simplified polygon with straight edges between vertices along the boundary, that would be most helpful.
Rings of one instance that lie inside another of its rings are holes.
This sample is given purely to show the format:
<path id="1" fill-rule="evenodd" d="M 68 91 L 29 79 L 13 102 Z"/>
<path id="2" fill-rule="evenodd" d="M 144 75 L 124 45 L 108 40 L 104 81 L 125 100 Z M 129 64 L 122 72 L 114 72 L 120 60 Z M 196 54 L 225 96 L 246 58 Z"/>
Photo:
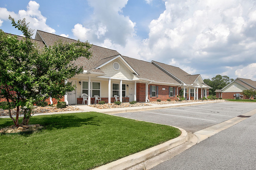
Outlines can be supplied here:
<path id="1" fill-rule="evenodd" d="M 136 154 L 129 155 L 129 156 L 119 159 L 117 161 L 113 161 L 106 165 L 102 165 L 93 170 L 126 170 L 128 168 L 131 168 L 132 166 L 135 166 L 139 163 L 147 161 L 148 159 L 150 159 L 152 157 L 162 154 L 163 152 L 166 152 L 167 150 L 170 150 L 171 148 L 174 148 L 182 143 L 185 143 L 188 140 L 188 134 L 185 130 L 183 130 L 181 128 L 178 128 L 178 129 L 180 129 L 180 131 L 181 131 L 181 135 L 179 137 L 171 139 L 170 141 L 159 144 L 152 148 L 148 148 L 148 149 L 138 152 Z"/>

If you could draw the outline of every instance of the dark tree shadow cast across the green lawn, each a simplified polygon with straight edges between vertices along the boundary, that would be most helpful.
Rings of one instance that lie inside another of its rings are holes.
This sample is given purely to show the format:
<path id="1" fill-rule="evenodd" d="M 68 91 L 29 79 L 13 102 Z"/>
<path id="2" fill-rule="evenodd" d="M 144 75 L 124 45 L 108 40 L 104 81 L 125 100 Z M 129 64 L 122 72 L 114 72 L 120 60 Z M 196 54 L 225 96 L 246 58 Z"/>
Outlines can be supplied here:
<path id="1" fill-rule="evenodd" d="M 86 118 L 80 118 L 76 115 L 51 115 L 47 117 L 32 117 L 29 124 L 40 124 L 47 130 L 64 129 L 70 127 L 79 127 L 84 125 L 100 126 L 100 121 L 96 120 L 97 116 L 90 116 Z M 22 120 L 19 120 L 21 122 Z M 1 128 L 10 126 L 13 121 L 8 120 L 0 124 Z"/>

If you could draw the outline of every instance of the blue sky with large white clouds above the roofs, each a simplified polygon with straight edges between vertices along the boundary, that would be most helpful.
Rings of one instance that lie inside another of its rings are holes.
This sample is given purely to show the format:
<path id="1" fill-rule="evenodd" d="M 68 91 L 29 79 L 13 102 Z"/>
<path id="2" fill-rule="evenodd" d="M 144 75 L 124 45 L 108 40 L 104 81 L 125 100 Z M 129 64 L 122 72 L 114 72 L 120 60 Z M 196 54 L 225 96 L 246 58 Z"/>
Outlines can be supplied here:
<path id="1" fill-rule="evenodd" d="M 180 67 L 203 79 L 217 74 L 256 80 L 256 1 L 253 0 L 1 0 L 8 20 L 88 40 L 122 55 Z"/>

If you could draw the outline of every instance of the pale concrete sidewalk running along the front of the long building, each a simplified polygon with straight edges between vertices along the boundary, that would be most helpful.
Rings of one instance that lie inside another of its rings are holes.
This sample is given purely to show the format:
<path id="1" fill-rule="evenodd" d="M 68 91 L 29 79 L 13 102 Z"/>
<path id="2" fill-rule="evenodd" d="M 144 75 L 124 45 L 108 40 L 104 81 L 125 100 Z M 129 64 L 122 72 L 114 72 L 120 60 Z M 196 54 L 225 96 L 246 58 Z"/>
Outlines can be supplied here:
<path id="1" fill-rule="evenodd" d="M 164 108 L 175 108 L 175 107 L 182 107 L 182 106 L 192 106 L 192 105 L 215 103 L 215 102 L 224 102 L 224 101 L 205 101 L 205 102 L 190 102 L 190 103 L 177 103 L 177 104 L 151 104 L 150 103 L 152 106 L 138 106 L 138 107 L 111 108 L 111 109 L 98 109 L 98 108 L 93 108 L 87 105 L 77 105 L 73 107 L 80 108 L 81 110 L 68 111 L 68 112 L 38 113 L 38 114 L 34 114 L 33 116 L 54 115 L 54 114 L 63 114 L 63 113 L 81 113 L 81 112 L 99 112 L 99 113 L 106 113 L 106 114 L 114 114 L 114 113 L 139 112 L 144 110 L 155 110 L 155 109 L 164 109 Z M 16 115 L 13 115 L 13 117 L 16 117 Z M 9 118 L 9 116 L 0 116 L 0 118 Z"/>

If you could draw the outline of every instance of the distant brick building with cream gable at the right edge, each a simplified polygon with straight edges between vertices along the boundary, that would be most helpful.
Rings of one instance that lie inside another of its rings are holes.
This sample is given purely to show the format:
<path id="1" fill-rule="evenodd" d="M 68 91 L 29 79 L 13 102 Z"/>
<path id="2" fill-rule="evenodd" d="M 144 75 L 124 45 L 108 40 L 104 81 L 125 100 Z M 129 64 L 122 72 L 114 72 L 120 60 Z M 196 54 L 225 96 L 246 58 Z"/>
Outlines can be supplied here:
<path id="1" fill-rule="evenodd" d="M 236 78 L 222 89 L 215 90 L 216 97 L 223 99 L 248 99 L 242 92 L 243 90 L 256 90 L 256 81 L 250 79 Z"/>

